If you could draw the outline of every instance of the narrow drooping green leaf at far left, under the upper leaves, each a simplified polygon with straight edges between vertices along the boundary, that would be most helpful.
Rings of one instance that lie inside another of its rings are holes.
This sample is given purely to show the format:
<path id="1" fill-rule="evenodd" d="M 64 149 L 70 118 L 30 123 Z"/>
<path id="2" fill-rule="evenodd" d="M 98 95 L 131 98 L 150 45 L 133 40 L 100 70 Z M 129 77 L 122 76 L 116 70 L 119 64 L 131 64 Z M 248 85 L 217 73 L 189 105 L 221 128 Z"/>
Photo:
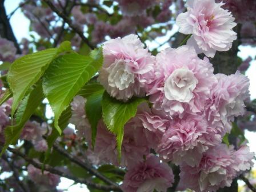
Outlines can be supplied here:
<path id="1" fill-rule="evenodd" d="M 42 83 L 38 85 L 27 95 L 21 102 L 17 110 L 17 124 L 5 128 L 5 146 L 1 151 L 2 155 L 9 145 L 15 145 L 19 139 L 22 128 L 34 113 L 37 106 L 43 101 L 44 95 L 42 90 Z"/>

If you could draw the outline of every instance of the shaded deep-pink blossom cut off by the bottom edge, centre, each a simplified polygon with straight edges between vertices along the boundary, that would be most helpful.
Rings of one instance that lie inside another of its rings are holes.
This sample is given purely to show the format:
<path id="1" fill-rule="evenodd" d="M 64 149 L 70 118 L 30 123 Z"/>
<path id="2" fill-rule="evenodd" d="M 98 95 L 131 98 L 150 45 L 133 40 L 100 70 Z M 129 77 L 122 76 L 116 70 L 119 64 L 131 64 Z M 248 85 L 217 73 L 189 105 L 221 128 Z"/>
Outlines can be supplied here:
<path id="1" fill-rule="evenodd" d="M 174 175 L 167 163 L 148 155 L 144 162 L 138 163 L 125 174 L 121 188 L 124 192 L 165 192 L 172 186 Z"/>

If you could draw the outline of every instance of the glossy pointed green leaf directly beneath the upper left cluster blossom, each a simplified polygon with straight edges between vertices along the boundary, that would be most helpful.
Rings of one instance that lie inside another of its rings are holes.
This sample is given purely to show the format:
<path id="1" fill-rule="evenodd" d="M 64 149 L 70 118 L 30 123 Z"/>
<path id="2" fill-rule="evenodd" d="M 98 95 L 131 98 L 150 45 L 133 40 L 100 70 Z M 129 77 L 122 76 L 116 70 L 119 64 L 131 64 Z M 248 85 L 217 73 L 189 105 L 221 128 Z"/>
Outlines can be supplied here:
<path id="1" fill-rule="evenodd" d="M 137 107 L 145 102 L 145 98 L 132 98 L 123 103 L 110 97 L 106 92 L 102 99 L 102 115 L 107 128 L 117 136 L 117 149 L 121 158 L 121 147 L 123 141 L 123 127 L 125 123 L 137 113 Z"/>

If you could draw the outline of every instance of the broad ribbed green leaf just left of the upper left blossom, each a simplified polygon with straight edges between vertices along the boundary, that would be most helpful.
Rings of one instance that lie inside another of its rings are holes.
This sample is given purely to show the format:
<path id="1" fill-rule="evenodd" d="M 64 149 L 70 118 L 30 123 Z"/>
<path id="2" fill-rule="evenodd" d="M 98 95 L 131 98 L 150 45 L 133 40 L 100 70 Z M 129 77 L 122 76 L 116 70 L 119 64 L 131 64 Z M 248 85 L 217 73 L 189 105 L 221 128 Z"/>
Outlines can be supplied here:
<path id="1" fill-rule="evenodd" d="M 54 126 L 61 134 L 59 117 L 77 92 L 102 66 L 102 50 L 91 56 L 66 54 L 56 58 L 43 77 L 43 91 L 54 111 Z"/>

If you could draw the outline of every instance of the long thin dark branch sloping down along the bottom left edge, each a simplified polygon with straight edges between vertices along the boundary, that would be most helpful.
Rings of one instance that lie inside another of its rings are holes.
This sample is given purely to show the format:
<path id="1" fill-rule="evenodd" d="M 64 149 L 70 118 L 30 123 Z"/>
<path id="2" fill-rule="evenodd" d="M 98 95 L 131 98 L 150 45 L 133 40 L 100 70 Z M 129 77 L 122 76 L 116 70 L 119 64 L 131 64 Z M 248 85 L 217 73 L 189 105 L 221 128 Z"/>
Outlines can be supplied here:
<path id="1" fill-rule="evenodd" d="M 36 162 L 33 159 L 28 158 L 25 154 L 21 153 L 20 151 L 18 151 L 16 149 L 13 149 L 13 148 L 10 148 L 10 147 L 8 147 L 8 150 L 11 153 L 13 153 L 13 154 L 18 155 L 19 157 L 22 157 L 23 159 L 25 159 L 25 161 L 27 161 L 28 163 L 30 163 L 31 165 L 33 165 L 37 169 L 41 169 L 42 168 L 42 165 L 43 165 L 42 163 Z M 94 187 L 95 189 L 104 190 L 104 191 L 121 191 L 119 189 L 119 187 L 100 185 L 98 183 L 91 182 L 88 179 L 76 178 L 73 175 L 70 175 L 68 173 L 64 173 L 63 171 L 55 169 L 54 167 L 51 167 L 49 165 L 45 165 L 45 170 L 49 171 L 50 173 L 59 175 L 61 177 L 65 177 L 65 178 L 71 179 L 71 180 L 73 180 L 75 182 L 83 183 L 83 184 L 85 184 L 87 186 Z"/>

